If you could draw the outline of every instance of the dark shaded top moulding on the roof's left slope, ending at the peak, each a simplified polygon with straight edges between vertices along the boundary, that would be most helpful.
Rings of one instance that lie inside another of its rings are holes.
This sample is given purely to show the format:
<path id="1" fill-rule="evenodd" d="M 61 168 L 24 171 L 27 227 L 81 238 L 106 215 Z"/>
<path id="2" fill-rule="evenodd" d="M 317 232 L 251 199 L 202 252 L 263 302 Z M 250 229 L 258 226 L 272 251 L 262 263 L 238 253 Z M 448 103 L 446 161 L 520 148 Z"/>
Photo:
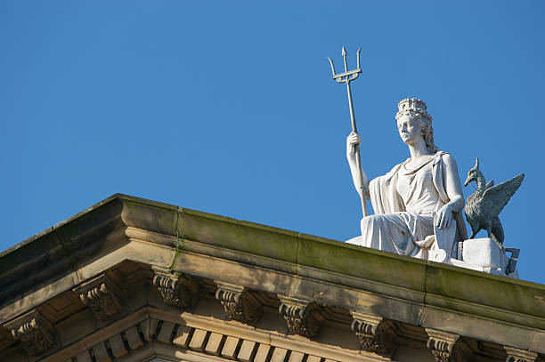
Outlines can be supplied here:
<path id="1" fill-rule="evenodd" d="M 98 253 L 107 242 L 104 236 L 123 226 L 122 209 L 118 195 L 108 197 L 0 253 L 0 308 Z"/>

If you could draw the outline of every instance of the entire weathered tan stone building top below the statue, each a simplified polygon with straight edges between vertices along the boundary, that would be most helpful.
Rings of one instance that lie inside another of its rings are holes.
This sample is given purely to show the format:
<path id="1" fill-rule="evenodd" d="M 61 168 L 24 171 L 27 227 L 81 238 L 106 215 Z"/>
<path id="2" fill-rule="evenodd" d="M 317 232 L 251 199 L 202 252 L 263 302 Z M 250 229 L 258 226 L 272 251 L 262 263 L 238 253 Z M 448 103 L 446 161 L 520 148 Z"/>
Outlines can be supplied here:
<path id="1" fill-rule="evenodd" d="M 545 286 L 114 195 L 0 254 L 0 361 L 545 361 Z"/>

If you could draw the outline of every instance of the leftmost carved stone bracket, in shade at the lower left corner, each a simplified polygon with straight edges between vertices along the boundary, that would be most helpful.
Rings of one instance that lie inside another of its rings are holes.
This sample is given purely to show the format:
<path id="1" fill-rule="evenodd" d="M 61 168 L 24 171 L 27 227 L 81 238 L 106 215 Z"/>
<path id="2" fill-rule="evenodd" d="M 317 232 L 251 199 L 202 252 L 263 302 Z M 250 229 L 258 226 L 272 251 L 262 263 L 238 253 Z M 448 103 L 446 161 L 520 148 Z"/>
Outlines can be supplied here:
<path id="1" fill-rule="evenodd" d="M 45 352 L 55 342 L 53 326 L 37 310 L 30 310 L 4 327 L 12 331 L 13 338 L 22 343 L 29 355 Z"/>

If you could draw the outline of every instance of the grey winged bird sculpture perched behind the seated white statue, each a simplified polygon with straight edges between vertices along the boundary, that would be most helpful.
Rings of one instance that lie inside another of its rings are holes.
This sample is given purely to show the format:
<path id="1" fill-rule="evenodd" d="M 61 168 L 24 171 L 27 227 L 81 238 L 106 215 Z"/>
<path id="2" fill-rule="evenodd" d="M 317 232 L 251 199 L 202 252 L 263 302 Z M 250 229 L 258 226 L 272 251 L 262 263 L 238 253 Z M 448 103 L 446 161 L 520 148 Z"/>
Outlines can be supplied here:
<path id="1" fill-rule="evenodd" d="M 484 175 L 479 170 L 479 158 L 477 157 L 476 164 L 469 170 L 468 178 L 464 183 L 464 186 L 468 186 L 471 181 L 476 181 L 477 184 L 476 192 L 468 197 L 464 207 L 466 219 L 471 226 L 470 239 L 474 238 L 479 230 L 485 229 L 488 232 L 488 237 L 491 237 L 498 245 L 503 244 L 503 227 L 498 215 L 520 187 L 524 178 L 525 174 L 521 173 L 496 186 L 493 181 L 485 183 Z"/>

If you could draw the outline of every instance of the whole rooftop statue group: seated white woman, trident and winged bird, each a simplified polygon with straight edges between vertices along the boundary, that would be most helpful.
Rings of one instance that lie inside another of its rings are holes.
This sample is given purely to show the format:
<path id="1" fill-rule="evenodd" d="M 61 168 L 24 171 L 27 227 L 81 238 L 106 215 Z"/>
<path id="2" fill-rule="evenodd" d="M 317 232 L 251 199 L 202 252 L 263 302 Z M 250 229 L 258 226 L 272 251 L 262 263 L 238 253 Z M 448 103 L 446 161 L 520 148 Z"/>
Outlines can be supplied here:
<path id="1" fill-rule="evenodd" d="M 360 49 L 361 50 L 361 49 Z M 437 149 L 432 117 L 426 103 L 407 98 L 397 105 L 397 129 L 407 144 L 411 157 L 383 176 L 369 181 L 360 160 L 361 138 L 355 124 L 350 83 L 362 73 L 360 50 L 357 68 L 348 70 L 346 49 L 342 55 L 345 72 L 337 73 L 329 59 L 333 80 L 346 84 L 352 133 L 346 138 L 346 157 L 355 189 L 362 200 L 362 236 L 347 243 L 371 247 L 400 255 L 447 262 L 468 269 L 518 278 L 516 269 L 519 249 L 506 248 L 498 213 L 520 186 L 524 175 L 493 186 L 484 185 L 484 176 L 476 166 L 468 173 L 466 186 L 477 181 L 477 192 L 468 197 L 466 216 L 473 231 L 468 239 L 458 167 L 454 157 Z M 374 215 L 368 216 L 370 199 Z M 488 237 L 476 238 L 480 229 Z M 511 253 L 511 258 L 507 254 Z"/>

